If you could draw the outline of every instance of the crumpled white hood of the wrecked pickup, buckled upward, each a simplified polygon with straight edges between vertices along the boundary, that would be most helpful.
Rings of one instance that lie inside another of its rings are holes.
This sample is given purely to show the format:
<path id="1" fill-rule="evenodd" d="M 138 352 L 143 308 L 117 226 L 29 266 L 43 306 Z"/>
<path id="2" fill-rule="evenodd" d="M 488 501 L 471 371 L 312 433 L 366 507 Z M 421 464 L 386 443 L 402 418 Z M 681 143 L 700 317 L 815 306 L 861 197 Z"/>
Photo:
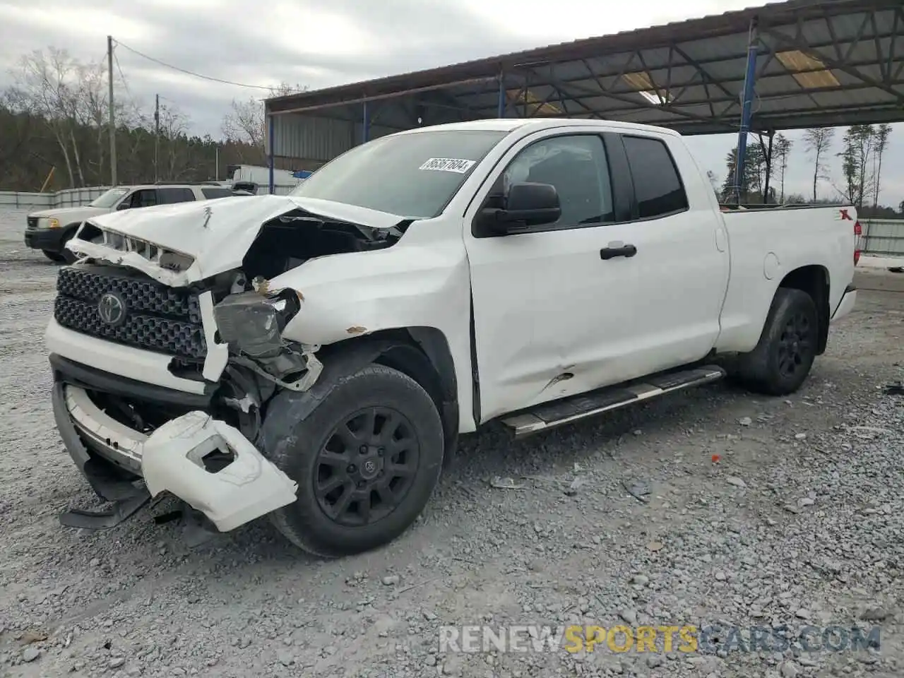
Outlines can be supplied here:
<path id="1" fill-rule="evenodd" d="M 135 253 L 110 250 L 78 238 L 70 240 L 66 247 L 91 257 L 99 257 L 99 249 L 106 250 L 103 258 L 144 270 L 154 278 L 177 287 L 239 268 L 245 253 L 258 237 L 261 226 L 297 208 L 376 229 L 389 229 L 402 219 L 395 214 L 315 198 L 231 196 L 110 212 L 90 219 L 91 223 L 106 231 L 116 231 L 193 257 L 193 265 L 181 274 L 164 269 L 152 272 L 146 259 L 139 261 L 141 257 Z"/>

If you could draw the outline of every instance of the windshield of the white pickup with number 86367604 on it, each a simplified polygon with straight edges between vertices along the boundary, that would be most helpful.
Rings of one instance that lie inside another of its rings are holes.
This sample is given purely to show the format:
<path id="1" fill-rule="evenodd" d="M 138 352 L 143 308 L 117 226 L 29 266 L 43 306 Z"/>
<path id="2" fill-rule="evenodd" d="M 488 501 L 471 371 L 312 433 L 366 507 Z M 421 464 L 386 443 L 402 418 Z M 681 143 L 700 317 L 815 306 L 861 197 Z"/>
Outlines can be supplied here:
<path id="1" fill-rule="evenodd" d="M 335 158 L 290 194 L 430 219 L 506 134 L 458 129 L 382 137 Z"/>

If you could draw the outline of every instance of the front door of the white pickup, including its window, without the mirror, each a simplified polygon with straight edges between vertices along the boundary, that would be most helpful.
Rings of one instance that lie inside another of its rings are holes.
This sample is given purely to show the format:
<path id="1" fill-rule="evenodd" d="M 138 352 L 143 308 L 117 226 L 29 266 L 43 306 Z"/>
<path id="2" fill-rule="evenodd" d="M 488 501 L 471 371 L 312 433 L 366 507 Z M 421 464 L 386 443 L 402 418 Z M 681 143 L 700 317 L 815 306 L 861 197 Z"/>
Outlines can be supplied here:
<path id="1" fill-rule="evenodd" d="M 484 421 L 599 385 L 599 370 L 586 369 L 611 312 L 599 250 L 620 208 L 598 127 L 555 131 L 518 142 L 466 215 L 474 223 L 516 182 L 552 184 L 559 193 L 554 223 L 504 236 L 466 226 Z"/>

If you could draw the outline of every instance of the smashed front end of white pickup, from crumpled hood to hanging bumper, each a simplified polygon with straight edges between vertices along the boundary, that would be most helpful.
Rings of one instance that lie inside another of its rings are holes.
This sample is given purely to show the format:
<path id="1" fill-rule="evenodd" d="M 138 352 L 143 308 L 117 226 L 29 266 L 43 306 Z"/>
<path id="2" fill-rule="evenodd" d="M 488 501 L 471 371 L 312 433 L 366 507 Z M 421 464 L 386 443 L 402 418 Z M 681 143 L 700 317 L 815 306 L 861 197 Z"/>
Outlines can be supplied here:
<path id="1" fill-rule="evenodd" d="M 224 252 L 221 238 L 190 233 L 170 249 L 141 228 L 114 231 L 118 214 L 87 222 L 71 241 L 81 259 L 61 272 L 47 332 L 54 416 L 71 457 L 113 508 L 70 511 L 62 523 L 111 527 L 169 493 L 226 532 L 295 501 L 296 483 L 260 453 L 259 432 L 268 401 L 307 391 L 323 365 L 320 346 L 283 336 L 303 295 L 267 280 L 307 259 L 393 240 L 291 206 L 273 216 L 266 202 L 268 221 L 246 227 L 253 237 L 231 224 L 238 254 Z M 196 226 L 216 231 L 222 207 L 204 208 Z M 158 219 L 185 225 L 187 213 Z M 205 256 L 210 248 L 215 255 Z"/>

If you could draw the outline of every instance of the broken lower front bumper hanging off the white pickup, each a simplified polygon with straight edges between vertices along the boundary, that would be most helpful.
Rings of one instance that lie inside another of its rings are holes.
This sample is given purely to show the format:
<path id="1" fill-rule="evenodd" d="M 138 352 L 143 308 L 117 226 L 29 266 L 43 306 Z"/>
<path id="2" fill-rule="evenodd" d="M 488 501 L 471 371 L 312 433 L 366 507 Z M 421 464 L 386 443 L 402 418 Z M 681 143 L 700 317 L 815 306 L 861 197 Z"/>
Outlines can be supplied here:
<path id="1" fill-rule="evenodd" d="M 131 514 L 151 496 L 170 492 L 221 532 L 295 501 L 296 483 L 237 428 L 191 410 L 147 435 L 101 410 L 84 383 L 90 368 L 80 368 L 75 383 L 55 370 L 53 416 L 72 460 L 101 498 L 128 504 Z"/>

